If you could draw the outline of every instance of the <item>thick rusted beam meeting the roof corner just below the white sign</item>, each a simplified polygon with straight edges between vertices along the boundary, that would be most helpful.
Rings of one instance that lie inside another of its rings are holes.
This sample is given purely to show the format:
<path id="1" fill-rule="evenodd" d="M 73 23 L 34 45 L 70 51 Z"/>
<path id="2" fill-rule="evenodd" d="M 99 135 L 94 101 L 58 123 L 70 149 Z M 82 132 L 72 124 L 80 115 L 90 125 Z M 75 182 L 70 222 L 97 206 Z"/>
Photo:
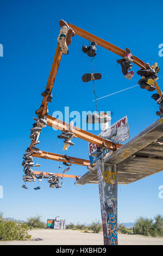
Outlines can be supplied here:
<path id="1" fill-rule="evenodd" d="M 61 121 L 57 118 L 51 117 L 51 115 L 47 115 L 47 125 L 64 132 L 70 130 L 68 123 L 65 123 L 64 121 Z M 73 133 L 78 138 L 84 139 L 84 141 L 91 142 L 99 146 L 102 146 L 104 142 L 106 148 L 110 150 L 116 150 L 122 146 L 121 144 L 115 144 L 113 142 L 107 141 L 106 139 L 98 137 L 97 135 L 93 135 L 92 133 L 84 131 L 76 126 L 73 127 Z"/>

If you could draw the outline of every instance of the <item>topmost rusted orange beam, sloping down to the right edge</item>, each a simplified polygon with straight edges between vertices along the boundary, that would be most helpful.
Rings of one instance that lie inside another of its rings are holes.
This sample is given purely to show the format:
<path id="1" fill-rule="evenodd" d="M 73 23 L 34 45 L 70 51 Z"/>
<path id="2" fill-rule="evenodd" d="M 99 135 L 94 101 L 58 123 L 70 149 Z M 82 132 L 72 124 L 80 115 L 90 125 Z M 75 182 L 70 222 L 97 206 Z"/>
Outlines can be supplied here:
<path id="1" fill-rule="evenodd" d="M 89 41 L 95 41 L 99 46 L 102 46 L 103 48 L 121 56 L 124 58 L 124 54 L 125 54 L 125 51 L 122 50 L 121 48 L 115 46 L 115 45 L 112 45 L 110 44 L 110 42 L 107 42 L 101 38 L 98 38 L 98 36 L 96 35 L 93 35 L 87 31 L 84 31 L 82 28 L 78 28 L 77 26 L 74 26 L 72 25 L 71 23 L 68 23 L 68 26 L 70 26 L 73 31 L 79 35 L 79 36 L 82 36 L 83 38 L 89 40 Z M 133 59 L 133 63 L 136 64 L 137 66 L 139 66 L 140 68 L 143 68 L 143 69 L 146 69 L 145 68 L 145 62 L 143 62 L 143 60 L 137 58 L 136 56 L 134 56 L 134 59 Z M 162 93 L 161 93 L 161 90 L 158 86 L 158 83 L 155 81 L 155 88 L 157 90 L 157 92 L 159 93 L 159 95 L 161 96 Z"/>

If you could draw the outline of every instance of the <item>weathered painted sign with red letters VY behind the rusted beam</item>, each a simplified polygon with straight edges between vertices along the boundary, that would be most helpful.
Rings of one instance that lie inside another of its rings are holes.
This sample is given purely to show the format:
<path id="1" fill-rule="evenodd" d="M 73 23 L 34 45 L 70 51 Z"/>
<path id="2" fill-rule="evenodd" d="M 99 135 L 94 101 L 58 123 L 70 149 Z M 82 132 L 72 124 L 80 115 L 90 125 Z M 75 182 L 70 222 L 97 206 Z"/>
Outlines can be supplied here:
<path id="1" fill-rule="evenodd" d="M 112 124 L 106 130 L 99 133 L 98 136 L 104 139 L 109 139 L 116 144 L 122 144 L 122 142 L 127 141 L 127 139 L 129 139 L 130 137 L 127 115 L 126 117 L 123 117 L 120 120 L 116 121 L 116 123 Z M 109 153 L 109 151 L 109 149 L 105 149 L 103 151 L 103 154 L 99 157 L 91 156 L 91 153 L 97 153 L 97 145 L 89 143 L 90 163 L 95 163 L 98 159 L 101 159 L 101 157 Z"/>

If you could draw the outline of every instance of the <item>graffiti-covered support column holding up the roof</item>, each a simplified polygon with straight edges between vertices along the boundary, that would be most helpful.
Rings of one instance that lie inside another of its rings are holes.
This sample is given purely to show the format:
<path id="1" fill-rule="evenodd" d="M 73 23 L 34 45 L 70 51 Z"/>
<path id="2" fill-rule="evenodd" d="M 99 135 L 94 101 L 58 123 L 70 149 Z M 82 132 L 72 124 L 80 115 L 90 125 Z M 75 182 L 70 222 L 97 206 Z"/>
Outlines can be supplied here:
<path id="1" fill-rule="evenodd" d="M 117 239 L 117 166 L 97 162 L 104 245 L 118 245 Z"/>

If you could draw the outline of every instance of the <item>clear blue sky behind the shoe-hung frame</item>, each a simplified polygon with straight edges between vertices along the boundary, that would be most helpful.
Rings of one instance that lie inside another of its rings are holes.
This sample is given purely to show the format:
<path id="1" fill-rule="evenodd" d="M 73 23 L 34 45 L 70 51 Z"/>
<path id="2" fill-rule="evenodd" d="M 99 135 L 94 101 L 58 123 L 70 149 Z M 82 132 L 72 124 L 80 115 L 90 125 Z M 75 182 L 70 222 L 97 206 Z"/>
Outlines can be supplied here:
<path id="1" fill-rule="evenodd" d="M 51 70 L 59 20 L 64 19 L 86 31 L 126 48 L 151 64 L 160 66 L 161 87 L 163 82 L 162 60 L 159 44 L 162 39 L 162 1 L 1 1 L 0 44 L 4 47 L 4 57 L 0 57 L 1 72 L 1 173 L 0 185 L 4 188 L 4 198 L 0 199 L 0 211 L 7 217 L 26 218 L 41 215 L 42 220 L 59 215 L 67 223 L 90 223 L 101 220 L 98 186 L 87 184 L 74 186 L 74 179 L 65 178 L 65 186 L 59 190 L 49 188 L 44 180 L 41 190 L 34 191 L 34 183 L 28 190 L 22 188 L 23 169 L 21 166 L 24 150 L 30 144 L 30 128 L 34 123 L 35 110 L 41 105 L 40 93 L 46 88 Z M 91 72 L 90 58 L 82 52 L 89 42 L 79 36 L 72 38 L 69 54 L 63 56 L 55 84 L 53 101 L 49 103 L 49 114 L 71 111 L 95 111 L 92 102 L 92 83 L 83 83 L 82 75 Z M 97 47 L 93 60 L 93 70 L 101 72 L 102 80 L 95 83 L 96 94 L 101 97 L 137 84 L 140 77 L 132 80 L 123 77 L 115 54 Z M 133 65 L 133 70 L 139 70 Z M 151 99 L 152 93 L 139 87 L 98 100 L 99 111 L 112 111 L 113 124 L 128 116 L 130 137 L 133 138 L 157 120 L 158 106 Z M 71 120 L 71 119 L 70 119 Z M 51 127 L 43 129 L 39 148 L 52 153 L 64 154 L 63 143 Z M 95 131 L 98 134 L 97 131 Z M 74 139 L 70 156 L 88 159 L 87 142 Z M 38 160 L 38 170 L 58 172 L 59 163 Z M 35 163 L 37 160 L 35 160 Z M 69 174 L 83 175 L 87 169 L 74 165 Z M 162 214 L 163 199 L 158 197 L 158 187 L 163 185 L 163 175 L 158 173 L 130 185 L 118 186 L 118 222 L 134 222 L 142 215 L 153 217 Z"/>

